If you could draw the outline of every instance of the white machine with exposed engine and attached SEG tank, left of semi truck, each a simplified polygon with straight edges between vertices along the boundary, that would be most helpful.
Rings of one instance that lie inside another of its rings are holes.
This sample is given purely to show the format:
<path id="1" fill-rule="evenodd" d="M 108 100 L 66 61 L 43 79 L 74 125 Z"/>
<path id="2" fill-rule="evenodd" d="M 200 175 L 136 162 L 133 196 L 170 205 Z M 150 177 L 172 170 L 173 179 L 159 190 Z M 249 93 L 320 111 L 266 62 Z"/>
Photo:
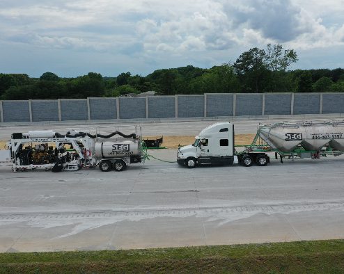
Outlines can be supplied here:
<path id="1" fill-rule="evenodd" d="M 141 135 L 91 134 L 77 130 L 59 134 L 52 130 L 14 133 L 7 142 L 7 150 L 0 150 L 0 165 L 13 171 L 79 170 L 99 166 L 102 171 L 125 170 L 132 163 L 143 160 Z"/>

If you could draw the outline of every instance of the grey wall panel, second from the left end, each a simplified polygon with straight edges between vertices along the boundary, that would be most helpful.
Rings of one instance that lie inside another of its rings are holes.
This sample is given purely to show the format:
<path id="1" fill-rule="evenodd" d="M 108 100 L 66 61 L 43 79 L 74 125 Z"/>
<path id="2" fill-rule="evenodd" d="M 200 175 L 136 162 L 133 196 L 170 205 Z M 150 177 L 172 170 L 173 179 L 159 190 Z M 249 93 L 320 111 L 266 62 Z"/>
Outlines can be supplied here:
<path id="1" fill-rule="evenodd" d="M 57 101 L 31 101 L 32 121 L 58 121 Z"/>

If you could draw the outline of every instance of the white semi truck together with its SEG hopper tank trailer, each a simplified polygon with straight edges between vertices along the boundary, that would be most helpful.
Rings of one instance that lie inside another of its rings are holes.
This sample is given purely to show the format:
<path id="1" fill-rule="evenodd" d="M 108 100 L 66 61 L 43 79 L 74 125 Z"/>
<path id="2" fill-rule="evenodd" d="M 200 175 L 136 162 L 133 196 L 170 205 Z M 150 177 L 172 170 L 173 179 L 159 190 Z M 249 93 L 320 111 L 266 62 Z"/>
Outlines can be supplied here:
<path id="1" fill-rule="evenodd" d="M 219 122 L 206 127 L 192 145 L 179 147 L 177 162 L 187 168 L 201 165 L 240 163 L 242 166 L 267 166 L 275 159 L 338 156 L 344 153 L 344 122 L 281 122 L 259 124 L 251 145 L 237 152 L 234 125 Z M 239 149 L 238 149 L 239 150 Z"/>

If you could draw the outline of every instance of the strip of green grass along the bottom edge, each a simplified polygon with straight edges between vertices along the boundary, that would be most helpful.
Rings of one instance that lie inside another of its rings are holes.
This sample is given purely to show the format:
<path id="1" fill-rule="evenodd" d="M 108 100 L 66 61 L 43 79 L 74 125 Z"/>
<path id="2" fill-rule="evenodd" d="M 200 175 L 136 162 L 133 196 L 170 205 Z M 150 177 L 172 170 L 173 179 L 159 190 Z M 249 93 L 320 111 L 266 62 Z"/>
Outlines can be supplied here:
<path id="1" fill-rule="evenodd" d="M 0 273 L 344 273 L 344 240 L 2 253 Z"/>

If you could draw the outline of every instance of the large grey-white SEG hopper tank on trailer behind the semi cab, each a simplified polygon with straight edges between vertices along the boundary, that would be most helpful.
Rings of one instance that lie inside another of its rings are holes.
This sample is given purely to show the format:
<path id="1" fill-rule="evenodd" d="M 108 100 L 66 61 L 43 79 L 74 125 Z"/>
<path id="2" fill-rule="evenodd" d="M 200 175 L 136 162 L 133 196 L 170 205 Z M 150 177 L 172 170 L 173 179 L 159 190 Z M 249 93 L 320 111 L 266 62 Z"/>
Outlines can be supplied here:
<path id="1" fill-rule="evenodd" d="M 297 145 L 318 151 L 325 145 L 344 152 L 344 122 L 280 123 L 258 126 L 260 137 L 281 152 L 292 152 Z"/>

